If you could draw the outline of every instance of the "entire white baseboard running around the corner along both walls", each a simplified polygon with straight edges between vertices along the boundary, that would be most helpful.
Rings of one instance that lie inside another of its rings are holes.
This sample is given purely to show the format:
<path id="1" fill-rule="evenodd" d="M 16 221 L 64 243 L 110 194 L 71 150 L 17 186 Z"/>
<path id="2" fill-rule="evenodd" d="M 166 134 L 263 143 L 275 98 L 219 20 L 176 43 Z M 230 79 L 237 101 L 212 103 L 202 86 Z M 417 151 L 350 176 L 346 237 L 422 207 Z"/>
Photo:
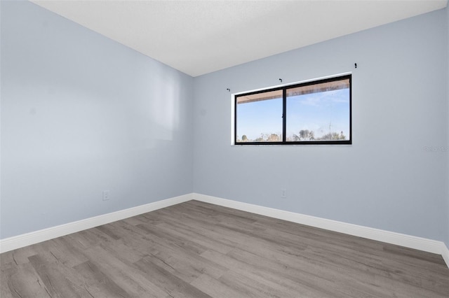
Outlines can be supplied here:
<path id="1" fill-rule="evenodd" d="M 48 229 L 41 229 L 36 232 L 30 232 L 27 234 L 13 236 L 6 239 L 0 239 L 0 253 L 6 253 L 9 250 L 22 248 L 24 246 L 29 246 L 34 243 L 39 243 L 60 236 L 65 236 L 67 234 L 79 232 L 84 229 L 91 229 L 92 227 L 98 227 L 99 225 L 105 225 L 109 222 L 123 220 L 125 218 L 130 218 L 132 216 L 140 215 L 142 213 L 147 213 L 155 211 L 160 208 L 180 204 L 185 201 L 190 201 L 192 199 L 196 199 L 197 201 L 204 201 L 206 203 L 215 204 L 219 206 L 234 208 L 241 211 L 247 211 L 250 213 L 265 215 L 271 218 L 279 218 L 281 220 L 297 222 L 302 225 L 309 225 L 311 227 L 319 227 L 321 229 L 328 229 L 334 232 L 340 232 L 353 236 L 363 237 L 366 239 L 396 244 L 398 246 L 405 246 L 407 248 L 423 250 L 429 253 L 436 253 L 443 257 L 443 260 L 449 267 L 449 248 L 445 246 L 445 243 L 443 243 L 442 241 L 435 241 L 431 239 L 420 238 L 417 236 L 410 236 L 396 232 L 389 232 L 384 231 L 382 229 L 373 229 L 370 227 L 363 227 L 360 225 L 352 225 L 345 222 L 338 222 L 336 220 L 316 218 L 310 215 L 293 213 L 289 211 L 257 206 L 253 204 L 243 203 L 240 201 L 232 201 L 229 199 L 222 199 L 219 197 L 212 197 L 206 194 L 196 194 L 196 193 L 185 194 L 170 199 L 163 199 L 161 201 L 155 201 L 153 203 L 145 204 L 142 206 L 128 208 L 113 213 L 107 213 L 104 215 L 98 215 L 93 218 L 87 218 L 85 220 L 69 222 L 65 225 L 59 225 L 56 227 L 50 227 Z"/>

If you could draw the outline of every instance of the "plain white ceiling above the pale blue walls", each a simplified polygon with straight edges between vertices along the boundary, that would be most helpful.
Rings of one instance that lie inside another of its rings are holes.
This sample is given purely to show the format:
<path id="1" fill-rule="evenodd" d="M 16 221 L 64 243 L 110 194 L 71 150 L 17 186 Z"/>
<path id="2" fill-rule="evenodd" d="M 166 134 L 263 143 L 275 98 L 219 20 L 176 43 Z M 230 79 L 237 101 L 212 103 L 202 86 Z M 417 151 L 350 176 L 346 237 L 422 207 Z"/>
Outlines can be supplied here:
<path id="1" fill-rule="evenodd" d="M 448 4 L 448 0 L 32 2 L 190 76 Z"/>

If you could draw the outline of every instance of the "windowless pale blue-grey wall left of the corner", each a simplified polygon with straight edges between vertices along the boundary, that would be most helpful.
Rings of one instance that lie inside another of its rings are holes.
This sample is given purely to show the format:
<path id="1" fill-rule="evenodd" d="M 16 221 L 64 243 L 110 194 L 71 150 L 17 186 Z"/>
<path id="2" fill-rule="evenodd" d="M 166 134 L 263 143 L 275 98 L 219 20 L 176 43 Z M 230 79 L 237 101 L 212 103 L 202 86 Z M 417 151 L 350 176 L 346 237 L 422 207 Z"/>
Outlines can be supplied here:
<path id="1" fill-rule="evenodd" d="M 0 238 L 191 193 L 192 104 L 192 77 L 1 1 Z"/>

